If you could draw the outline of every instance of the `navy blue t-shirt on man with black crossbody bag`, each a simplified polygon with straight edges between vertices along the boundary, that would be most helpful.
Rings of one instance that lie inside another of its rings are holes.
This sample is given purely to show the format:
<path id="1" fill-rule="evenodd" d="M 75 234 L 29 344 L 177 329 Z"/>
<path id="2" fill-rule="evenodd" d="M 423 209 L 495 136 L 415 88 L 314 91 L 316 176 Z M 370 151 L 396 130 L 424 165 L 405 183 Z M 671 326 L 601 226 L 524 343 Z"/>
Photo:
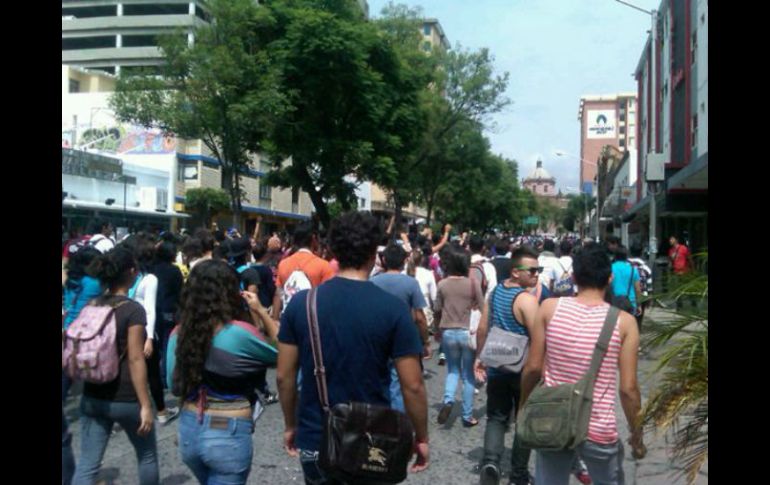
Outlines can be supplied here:
<path id="1" fill-rule="evenodd" d="M 302 389 L 296 445 L 318 451 L 322 415 L 305 312 L 307 291 L 291 299 L 278 341 L 299 351 Z M 335 277 L 318 287 L 318 327 L 329 405 L 349 401 L 390 405 L 388 361 L 421 356 L 422 342 L 407 307 L 370 281 Z"/>

